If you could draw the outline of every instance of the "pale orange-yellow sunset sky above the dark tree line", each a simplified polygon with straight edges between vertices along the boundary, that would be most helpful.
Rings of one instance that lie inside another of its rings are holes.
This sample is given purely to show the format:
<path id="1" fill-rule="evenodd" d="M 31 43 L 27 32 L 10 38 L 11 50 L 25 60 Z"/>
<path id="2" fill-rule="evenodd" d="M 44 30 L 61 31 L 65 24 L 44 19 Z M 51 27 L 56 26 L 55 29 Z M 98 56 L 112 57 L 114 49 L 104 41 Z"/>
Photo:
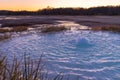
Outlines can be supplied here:
<path id="1" fill-rule="evenodd" d="M 35 11 L 47 6 L 58 7 L 96 7 L 120 5 L 120 0 L 0 0 L 0 10 Z"/>

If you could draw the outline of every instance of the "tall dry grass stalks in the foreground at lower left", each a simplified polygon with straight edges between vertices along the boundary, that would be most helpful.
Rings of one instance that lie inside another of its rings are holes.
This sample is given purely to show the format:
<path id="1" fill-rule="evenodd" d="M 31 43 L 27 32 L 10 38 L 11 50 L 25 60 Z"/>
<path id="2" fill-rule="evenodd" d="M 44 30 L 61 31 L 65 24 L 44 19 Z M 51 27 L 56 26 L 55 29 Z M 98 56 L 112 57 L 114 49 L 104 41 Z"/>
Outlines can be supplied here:
<path id="1" fill-rule="evenodd" d="M 0 55 L 0 80 L 62 80 L 63 76 L 58 74 L 53 79 L 48 78 L 48 74 L 43 73 L 44 64 L 42 56 L 39 60 L 32 60 L 24 55 L 22 60 L 14 57 L 9 64 L 7 57 Z"/>

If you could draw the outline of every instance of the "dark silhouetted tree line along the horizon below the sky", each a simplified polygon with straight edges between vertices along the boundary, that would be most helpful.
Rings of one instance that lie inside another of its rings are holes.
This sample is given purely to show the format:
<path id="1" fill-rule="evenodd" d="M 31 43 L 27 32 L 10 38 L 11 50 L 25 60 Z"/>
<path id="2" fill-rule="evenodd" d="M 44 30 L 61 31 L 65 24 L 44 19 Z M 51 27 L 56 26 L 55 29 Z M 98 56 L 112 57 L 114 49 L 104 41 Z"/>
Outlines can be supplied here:
<path id="1" fill-rule="evenodd" d="M 120 6 L 91 8 L 45 8 L 38 11 L 1 10 L 0 15 L 120 15 Z"/>

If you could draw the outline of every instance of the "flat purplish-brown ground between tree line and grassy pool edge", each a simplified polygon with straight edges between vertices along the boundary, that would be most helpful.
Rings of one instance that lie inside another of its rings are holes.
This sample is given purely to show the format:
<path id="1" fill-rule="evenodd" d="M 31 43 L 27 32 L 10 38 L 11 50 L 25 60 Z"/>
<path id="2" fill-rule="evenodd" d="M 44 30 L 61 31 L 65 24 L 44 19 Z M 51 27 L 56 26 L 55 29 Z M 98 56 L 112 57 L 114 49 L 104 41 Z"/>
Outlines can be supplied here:
<path id="1" fill-rule="evenodd" d="M 74 21 L 89 27 L 120 26 L 120 16 L 0 16 L 1 27 L 34 24 L 56 24 L 57 21 Z"/>

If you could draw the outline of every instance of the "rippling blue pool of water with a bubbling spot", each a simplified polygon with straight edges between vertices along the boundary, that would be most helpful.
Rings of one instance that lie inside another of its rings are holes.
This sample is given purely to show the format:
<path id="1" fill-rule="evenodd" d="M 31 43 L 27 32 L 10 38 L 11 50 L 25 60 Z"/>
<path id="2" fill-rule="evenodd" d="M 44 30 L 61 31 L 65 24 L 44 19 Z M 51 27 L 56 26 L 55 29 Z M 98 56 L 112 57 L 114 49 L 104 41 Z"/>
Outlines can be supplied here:
<path id="1" fill-rule="evenodd" d="M 43 54 L 45 69 L 71 80 L 120 80 L 120 34 L 93 31 L 32 33 L 0 42 L 9 58 Z"/>

